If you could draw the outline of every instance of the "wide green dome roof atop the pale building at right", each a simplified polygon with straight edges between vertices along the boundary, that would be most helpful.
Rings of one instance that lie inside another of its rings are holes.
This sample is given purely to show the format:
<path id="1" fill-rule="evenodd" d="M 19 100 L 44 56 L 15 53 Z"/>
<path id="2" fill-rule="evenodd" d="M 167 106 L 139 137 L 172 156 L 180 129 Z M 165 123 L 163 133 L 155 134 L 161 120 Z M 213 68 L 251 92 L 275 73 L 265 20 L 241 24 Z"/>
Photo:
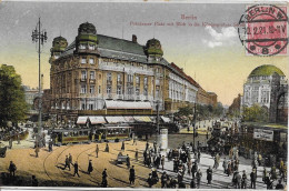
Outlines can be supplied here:
<path id="1" fill-rule="evenodd" d="M 249 77 L 272 76 L 275 72 L 279 76 L 285 76 L 282 70 L 280 70 L 279 68 L 272 64 L 263 64 L 253 69 Z"/>

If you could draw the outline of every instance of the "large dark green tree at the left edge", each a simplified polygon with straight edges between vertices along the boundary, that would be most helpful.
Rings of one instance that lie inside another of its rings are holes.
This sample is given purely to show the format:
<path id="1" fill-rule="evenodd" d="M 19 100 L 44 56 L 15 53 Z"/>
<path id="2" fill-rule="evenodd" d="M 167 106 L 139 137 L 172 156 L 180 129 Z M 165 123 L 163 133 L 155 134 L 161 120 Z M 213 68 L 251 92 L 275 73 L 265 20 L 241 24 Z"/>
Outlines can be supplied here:
<path id="1" fill-rule="evenodd" d="M 8 121 L 17 123 L 26 117 L 28 105 L 24 90 L 21 87 L 21 77 L 12 66 L 0 66 L 0 125 Z"/>

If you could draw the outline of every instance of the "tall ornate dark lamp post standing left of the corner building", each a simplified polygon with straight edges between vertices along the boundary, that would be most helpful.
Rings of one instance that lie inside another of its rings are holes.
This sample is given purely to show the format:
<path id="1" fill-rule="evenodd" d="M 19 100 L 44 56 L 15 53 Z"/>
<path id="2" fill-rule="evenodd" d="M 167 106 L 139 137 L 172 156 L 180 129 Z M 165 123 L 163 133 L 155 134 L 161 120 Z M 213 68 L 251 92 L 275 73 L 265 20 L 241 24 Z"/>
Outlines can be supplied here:
<path id="1" fill-rule="evenodd" d="M 41 30 L 41 22 L 40 22 L 40 18 L 39 21 L 37 23 L 36 29 L 32 31 L 32 42 L 38 43 L 38 80 L 39 80 L 39 88 L 38 88 L 38 96 L 39 96 L 39 103 L 38 103 L 38 110 L 39 110 L 39 114 L 38 114 L 38 142 L 40 141 L 40 137 L 41 137 L 41 110 L 42 110 L 42 98 L 41 98 L 41 68 L 40 68 L 40 54 L 41 54 L 41 47 L 43 46 L 44 42 L 47 42 L 47 32 L 46 30 Z"/>

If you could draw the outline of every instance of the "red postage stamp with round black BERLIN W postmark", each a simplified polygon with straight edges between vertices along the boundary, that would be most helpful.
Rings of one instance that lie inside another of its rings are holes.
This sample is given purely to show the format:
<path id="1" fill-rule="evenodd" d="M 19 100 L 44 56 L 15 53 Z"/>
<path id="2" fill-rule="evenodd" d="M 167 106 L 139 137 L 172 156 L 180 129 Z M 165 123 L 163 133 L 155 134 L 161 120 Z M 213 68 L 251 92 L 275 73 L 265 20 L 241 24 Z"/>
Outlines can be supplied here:
<path id="1" fill-rule="evenodd" d="M 248 7 L 239 21 L 238 34 L 248 54 L 287 56 L 287 7 Z"/>

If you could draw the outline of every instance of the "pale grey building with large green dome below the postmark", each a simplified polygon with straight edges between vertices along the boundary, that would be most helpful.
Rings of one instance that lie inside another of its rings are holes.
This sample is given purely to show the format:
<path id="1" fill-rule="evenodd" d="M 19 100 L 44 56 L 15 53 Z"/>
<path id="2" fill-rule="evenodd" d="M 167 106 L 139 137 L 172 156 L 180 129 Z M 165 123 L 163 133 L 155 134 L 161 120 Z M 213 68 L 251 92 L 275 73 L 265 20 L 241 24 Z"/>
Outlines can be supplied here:
<path id="1" fill-rule="evenodd" d="M 271 122 L 288 119 L 288 81 L 283 72 L 272 66 L 257 67 L 243 84 L 241 107 L 259 104 L 269 110 Z"/>

